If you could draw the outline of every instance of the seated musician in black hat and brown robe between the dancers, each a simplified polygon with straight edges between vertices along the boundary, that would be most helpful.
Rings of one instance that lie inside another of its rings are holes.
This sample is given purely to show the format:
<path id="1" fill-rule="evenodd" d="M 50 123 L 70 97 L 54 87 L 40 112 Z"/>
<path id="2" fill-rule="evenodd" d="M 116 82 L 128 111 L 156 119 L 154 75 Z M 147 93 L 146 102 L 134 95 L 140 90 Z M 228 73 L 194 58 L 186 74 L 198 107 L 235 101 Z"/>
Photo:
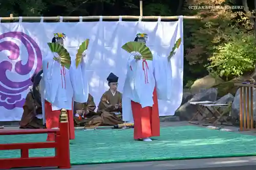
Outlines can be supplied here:
<path id="1" fill-rule="evenodd" d="M 101 96 L 97 110 L 101 116 L 101 125 L 122 124 L 122 93 L 117 91 L 118 77 L 111 72 L 106 80 L 110 89 Z"/>

